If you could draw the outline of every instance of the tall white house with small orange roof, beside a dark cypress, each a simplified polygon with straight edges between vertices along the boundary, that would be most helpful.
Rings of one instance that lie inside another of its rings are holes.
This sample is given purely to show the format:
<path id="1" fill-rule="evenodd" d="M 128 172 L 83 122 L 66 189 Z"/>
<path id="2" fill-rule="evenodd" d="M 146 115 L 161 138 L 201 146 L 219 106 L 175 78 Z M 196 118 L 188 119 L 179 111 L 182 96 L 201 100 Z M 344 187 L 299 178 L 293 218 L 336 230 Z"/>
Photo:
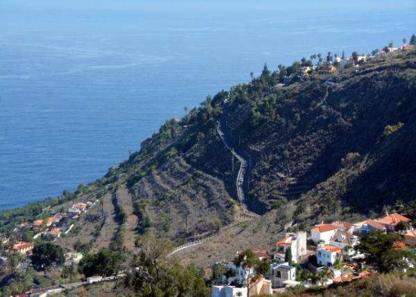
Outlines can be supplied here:
<path id="1" fill-rule="evenodd" d="M 292 261 L 297 263 L 300 257 L 306 255 L 306 232 L 286 233 L 284 239 L 277 241 L 276 247 L 275 259 L 285 260 L 286 251 L 290 248 Z"/>

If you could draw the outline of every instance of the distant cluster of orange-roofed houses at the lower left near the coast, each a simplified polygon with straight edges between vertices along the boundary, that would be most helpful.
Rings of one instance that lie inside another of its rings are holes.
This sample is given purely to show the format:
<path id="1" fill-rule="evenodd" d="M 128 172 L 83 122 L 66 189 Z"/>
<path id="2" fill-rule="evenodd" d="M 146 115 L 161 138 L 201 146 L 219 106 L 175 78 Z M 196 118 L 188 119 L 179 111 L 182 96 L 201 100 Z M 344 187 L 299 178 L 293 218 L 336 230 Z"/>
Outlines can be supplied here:
<path id="1" fill-rule="evenodd" d="M 41 238 L 42 235 L 47 235 L 53 238 L 53 241 L 58 239 L 62 234 L 68 234 L 73 228 L 73 219 L 78 219 L 80 214 L 87 212 L 87 207 L 91 207 L 96 204 L 97 201 L 88 201 L 87 203 L 74 203 L 69 207 L 67 212 L 56 212 L 47 219 L 37 219 L 33 222 L 20 223 L 16 226 L 15 232 L 23 232 L 25 228 L 30 228 L 35 234 L 33 239 Z M 10 246 L 10 249 L 6 250 L 6 253 L 20 253 L 30 257 L 34 247 L 33 242 L 25 241 L 12 241 L 10 238 L 0 234 L 0 240 L 3 246 Z M 73 262 L 78 261 L 80 255 L 68 255 L 67 257 Z M 67 259 L 67 260 L 68 260 Z M 4 261 L 1 261 L 1 266 L 5 266 L 7 263 L 7 257 L 4 257 Z"/>

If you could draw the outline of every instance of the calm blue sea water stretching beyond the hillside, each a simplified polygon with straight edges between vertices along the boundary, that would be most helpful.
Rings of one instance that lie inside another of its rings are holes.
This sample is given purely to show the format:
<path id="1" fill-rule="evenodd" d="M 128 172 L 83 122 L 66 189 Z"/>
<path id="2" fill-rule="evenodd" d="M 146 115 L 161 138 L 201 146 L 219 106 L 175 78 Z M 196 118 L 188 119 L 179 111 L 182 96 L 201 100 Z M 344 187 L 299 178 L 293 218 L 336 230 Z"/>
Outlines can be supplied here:
<path id="1" fill-rule="evenodd" d="M 0 209 L 103 176 L 172 117 L 312 53 L 416 31 L 416 1 L 0 1 Z"/>

